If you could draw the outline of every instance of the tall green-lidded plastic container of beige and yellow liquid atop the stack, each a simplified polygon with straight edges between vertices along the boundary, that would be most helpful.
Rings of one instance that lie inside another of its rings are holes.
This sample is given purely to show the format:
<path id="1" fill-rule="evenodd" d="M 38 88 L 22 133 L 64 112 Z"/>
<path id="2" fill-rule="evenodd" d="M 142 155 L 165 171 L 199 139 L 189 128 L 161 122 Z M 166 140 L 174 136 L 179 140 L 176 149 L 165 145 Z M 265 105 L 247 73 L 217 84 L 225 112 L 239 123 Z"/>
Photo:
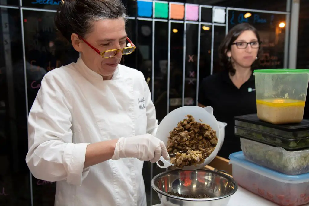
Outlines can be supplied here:
<path id="1" fill-rule="evenodd" d="M 303 120 L 307 95 L 308 69 L 254 70 L 256 109 L 260 120 L 272 124 Z"/>

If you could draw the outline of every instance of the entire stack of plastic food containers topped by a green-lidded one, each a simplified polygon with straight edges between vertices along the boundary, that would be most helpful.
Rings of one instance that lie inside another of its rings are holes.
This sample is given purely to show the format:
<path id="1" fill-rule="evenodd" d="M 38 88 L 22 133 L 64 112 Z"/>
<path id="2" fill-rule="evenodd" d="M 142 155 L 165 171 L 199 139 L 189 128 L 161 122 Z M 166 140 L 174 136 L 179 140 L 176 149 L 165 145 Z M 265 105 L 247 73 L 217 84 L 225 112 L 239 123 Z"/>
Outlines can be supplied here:
<path id="1" fill-rule="evenodd" d="M 235 117 L 242 152 L 230 156 L 240 186 L 283 206 L 309 203 L 309 70 L 255 70 L 257 114 Z"/>

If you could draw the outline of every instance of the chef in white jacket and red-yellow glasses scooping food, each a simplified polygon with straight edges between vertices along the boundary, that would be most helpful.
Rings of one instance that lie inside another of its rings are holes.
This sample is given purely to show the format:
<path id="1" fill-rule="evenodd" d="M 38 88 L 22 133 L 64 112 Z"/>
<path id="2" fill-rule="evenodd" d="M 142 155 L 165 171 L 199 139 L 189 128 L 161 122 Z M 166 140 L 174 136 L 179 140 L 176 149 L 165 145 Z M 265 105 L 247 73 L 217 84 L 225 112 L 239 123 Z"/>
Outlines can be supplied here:
<path id="1" fill-rule="evenodd" d="M 135 49 L 121 0 L 70 0 L 55 16 L 80 58 L 47 73 L 28 118 L 26 162 L 57 181 L 56 206 L 146 206 L 143 161 L 168 159 L 154 137 L 143 74 L 120 65 Z"/>

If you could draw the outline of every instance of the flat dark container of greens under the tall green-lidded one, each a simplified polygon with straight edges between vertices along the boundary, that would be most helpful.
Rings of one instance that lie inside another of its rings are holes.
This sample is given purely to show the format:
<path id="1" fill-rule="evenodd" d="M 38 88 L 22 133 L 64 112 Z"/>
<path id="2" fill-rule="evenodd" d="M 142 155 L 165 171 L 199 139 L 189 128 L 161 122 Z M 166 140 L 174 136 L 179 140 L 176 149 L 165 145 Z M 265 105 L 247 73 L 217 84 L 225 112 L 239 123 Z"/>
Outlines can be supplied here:
<path id="1" fill-rule="evenodd" d="M 309 149 L 309 121 L 275 125 L 258 119 L 256 114 L 237 116 L 235 135 L 289 151 Z"/>

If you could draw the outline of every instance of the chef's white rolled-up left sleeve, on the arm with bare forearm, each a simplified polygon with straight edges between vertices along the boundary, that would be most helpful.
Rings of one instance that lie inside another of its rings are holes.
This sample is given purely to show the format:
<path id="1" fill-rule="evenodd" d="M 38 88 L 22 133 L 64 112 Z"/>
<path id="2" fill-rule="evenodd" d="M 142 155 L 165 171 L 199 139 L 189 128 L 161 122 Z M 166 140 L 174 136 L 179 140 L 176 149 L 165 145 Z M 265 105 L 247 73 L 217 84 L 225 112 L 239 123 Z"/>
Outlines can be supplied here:
<path id="1" fill-rule="evenodd" d="M 37 179 L 81 185 L 89 143 L 72 143 L 72 100 L 64 82 L 53 71 L 41 82 L 28 117 L 26 162 Z"/>

